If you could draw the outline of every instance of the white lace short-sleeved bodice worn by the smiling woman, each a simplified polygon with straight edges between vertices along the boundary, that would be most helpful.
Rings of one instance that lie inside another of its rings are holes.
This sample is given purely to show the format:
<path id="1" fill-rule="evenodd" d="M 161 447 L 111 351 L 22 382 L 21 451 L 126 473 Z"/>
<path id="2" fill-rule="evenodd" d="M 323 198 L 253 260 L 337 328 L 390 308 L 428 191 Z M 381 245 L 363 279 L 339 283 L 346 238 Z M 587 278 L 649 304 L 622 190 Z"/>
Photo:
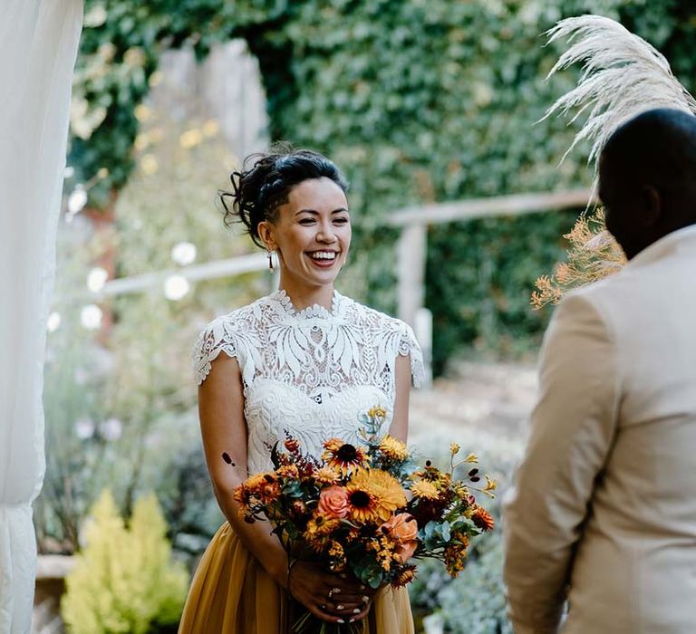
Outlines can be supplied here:
<path id="1" fill-rule="evenodd" d="M 270 467 L 269 446 L 289 432 L 314 455 L 324 440 L 355 440 L 358 416 L 394 405 L 394 370 L 410 355 L 415 385 L 423 360 L 404 322 L 333 293 L 332 310 L 295 311 L 276 291 L 210 322 L 194 348 L 198 385 L 220 352 L 237 359 L 245 393 L 250 473 Z"/>

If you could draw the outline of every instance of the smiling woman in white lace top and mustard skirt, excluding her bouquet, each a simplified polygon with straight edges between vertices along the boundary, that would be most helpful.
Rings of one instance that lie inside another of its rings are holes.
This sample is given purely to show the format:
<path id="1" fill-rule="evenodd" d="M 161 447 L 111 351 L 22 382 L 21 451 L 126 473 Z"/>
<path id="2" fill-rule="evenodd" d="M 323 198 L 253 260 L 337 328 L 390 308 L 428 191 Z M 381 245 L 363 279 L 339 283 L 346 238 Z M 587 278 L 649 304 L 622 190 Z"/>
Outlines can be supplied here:
<path id="1" fill-rule="evenodd" d="M 225 219 L 243 222 L 266 248 L 280 284 L 211 322 L 194 350 L 203 446 L 227 522 L 198 565 L 179 632 L 283 634 L 296 601 L 329 623 L 362 623 L 366 634 L 409 634 L 405 588 L 372 591 L 288 559 L 270 524 L 245 524 L 237 513 L 235 487 L 272 468 L 270 447 L 285 432 L 321 456 L 324 440 L 357 440 L 358 416 L 382 406 L 389 433 L 405 442 L 411 378 L 422 376 L 409 326 L 334 290 L 351 217 L 333 162 L 279 148 L 245 166 L 223 195 L 232 198 Z"/>

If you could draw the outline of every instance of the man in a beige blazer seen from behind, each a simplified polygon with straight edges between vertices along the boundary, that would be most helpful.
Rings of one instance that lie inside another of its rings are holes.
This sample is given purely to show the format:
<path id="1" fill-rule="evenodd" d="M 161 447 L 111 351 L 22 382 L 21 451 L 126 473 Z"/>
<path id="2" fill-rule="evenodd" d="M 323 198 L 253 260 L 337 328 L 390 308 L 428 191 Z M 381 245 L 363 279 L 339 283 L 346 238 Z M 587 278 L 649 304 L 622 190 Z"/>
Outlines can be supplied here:
<path id="1" fill-rule="evenodd" d="M 696 117 L 628 121 L 599 176 L 629 263 L 546 332 L 505 509 L 509 615 L 517 634 L 693 634 Z"/>

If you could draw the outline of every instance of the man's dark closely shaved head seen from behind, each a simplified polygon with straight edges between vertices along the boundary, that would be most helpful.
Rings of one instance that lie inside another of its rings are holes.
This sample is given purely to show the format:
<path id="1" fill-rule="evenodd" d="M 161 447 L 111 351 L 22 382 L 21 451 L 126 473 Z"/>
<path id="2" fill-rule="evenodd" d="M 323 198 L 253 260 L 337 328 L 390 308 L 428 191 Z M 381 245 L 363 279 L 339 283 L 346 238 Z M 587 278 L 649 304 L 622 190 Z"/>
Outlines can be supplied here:
<path id="1" fill-rule="evenodd" d="M 629 258 L 696 224 L 696 116 L 657 109 L 624 123 L 604 146 L 599 196 Z"/>

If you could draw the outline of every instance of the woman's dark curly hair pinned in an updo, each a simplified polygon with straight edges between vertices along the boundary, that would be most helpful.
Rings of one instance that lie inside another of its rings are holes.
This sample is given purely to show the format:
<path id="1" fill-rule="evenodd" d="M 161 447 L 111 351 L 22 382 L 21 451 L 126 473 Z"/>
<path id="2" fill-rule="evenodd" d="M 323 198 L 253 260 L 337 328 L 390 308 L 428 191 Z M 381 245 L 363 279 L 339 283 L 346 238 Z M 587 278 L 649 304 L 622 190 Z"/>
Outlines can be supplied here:
<path id="1" fill-rule="evenodd" d="M 250 167 L 249 167 L 250 166 Z M 309 178 L 331 178 L 343 191 L 348 183 L 326 157 L 309 149 L 293 149 L 276 144 L 267 153 L 252 154 L 244 160 L 241 172 L 232 172 L 232 191 L 219 193 L 225 208 L 225 224 L 241 222 L 258 246 L 259 223 L 277 219 L 278 207 L 288 201 L 290 190 Z M 231 208 L 228 199 L 232 199 Z"/>

